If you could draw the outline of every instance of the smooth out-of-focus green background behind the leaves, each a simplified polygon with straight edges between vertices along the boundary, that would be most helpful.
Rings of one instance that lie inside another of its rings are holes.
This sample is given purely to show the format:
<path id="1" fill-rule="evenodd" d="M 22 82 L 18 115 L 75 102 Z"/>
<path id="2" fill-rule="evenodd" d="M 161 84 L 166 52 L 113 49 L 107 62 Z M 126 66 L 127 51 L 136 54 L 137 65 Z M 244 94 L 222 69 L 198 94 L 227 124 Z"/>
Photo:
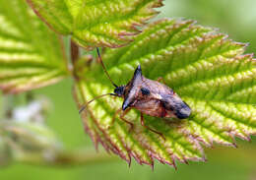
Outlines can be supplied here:
<path id="1" fill-rule="evenodd" d="M 183 17 L 197 20 L 199 24 L 216 27 L 229 34 L 235 41 L 249 42 L 247 52 L 255 52 L 256 47 L 256 1 L 255 0 L 165 0 L 160 8 L 162 17 Z M 48 96 L 54 109 L 47 119 L 67 149 L 86 147 L 94 151 L 89 136 L 84 133 L 75 102 L 72 99 L 72 80 L 35 93 Z M 178 163 L 178 170 L 168 165 L 156 163 L 153 171 L 149 166 L 133 161 L 129 168 L 121 159 L 111 159 L 84 166 L 46 167 L 12 164 L 0 170 L 0 180 L 115 180 L 115 179 L 256 179 L 256 138 L 251 142 L 237 140 L 238 149 L 216 148 L 206 150 L 208 162 Z M 102 151 L 102 150 L 100 150 Z"/>

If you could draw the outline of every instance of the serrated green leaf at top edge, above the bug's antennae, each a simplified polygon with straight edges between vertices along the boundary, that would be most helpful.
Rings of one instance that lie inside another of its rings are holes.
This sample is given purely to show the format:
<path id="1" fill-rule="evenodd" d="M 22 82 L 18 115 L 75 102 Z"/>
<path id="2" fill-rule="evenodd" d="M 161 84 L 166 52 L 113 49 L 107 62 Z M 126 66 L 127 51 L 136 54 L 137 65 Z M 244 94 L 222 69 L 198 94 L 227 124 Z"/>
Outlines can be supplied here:
<path id="1" fill-rule="evenodd" d="M 81 46 L 119 47 L 129 43 L 157 12 L 161 0 L 27 0 L 53 30 L 71 34 Z"/>

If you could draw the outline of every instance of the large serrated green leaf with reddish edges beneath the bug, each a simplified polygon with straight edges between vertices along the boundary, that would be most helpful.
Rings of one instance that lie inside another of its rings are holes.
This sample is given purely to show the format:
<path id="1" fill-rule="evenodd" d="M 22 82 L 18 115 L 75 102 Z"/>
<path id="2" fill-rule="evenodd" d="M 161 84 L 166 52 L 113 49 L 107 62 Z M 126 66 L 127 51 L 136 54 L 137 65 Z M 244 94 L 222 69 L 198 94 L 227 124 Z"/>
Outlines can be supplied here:
<path id="1" fill-rule="evenodd" d="M 160 162 L 175 165 L 174 160 L 204 160 L 202 145 L 213 143 L 235 146 L 234 136 L 249 140 L 256 133 L 256 61 L 242 55 L 245 44 L 227 39 L 216 30 L 195 25 L 193 21 L 161 20 L 149 26 L 129 46 L 107 50 L 102 56 L 110 77 L 117 85 L 126 85 L 141 64 L 146 78 L 162 77 L 192 108 L 185 120 L 163 121 L 145 116 L 151 128 L 140 125 L 138 110 L 125 118 L 135 124 L 129 132 L 115 111 L 119 97 L 103 97 L 92 102 L 82 114 L 87 132 L 106 150 L 128 162 Z M 114 89 L 99 64 L 87 69 L 77 83 L 79 103 Z M 112 124 L 113 123 L 113 124 Z"/>

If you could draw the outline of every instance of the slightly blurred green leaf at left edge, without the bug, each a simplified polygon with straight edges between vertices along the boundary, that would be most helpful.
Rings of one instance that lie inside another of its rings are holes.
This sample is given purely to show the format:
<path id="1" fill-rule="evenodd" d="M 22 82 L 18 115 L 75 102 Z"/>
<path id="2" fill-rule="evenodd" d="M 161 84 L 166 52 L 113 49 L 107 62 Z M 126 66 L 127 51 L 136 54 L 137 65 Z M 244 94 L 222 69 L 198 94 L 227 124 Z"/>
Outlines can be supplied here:
<path id="1" fill-rule="evenodd" d="M 0 0 L 0 88 L 16 93 L 67 76 L 61 39 L 26 2 Z"/>

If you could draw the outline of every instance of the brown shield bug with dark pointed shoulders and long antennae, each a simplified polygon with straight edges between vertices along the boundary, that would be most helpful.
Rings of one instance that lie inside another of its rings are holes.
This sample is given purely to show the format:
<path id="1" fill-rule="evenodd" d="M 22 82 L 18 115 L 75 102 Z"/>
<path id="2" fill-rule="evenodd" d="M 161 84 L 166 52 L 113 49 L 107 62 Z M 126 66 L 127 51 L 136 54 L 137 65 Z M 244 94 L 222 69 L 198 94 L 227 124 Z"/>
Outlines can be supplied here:
<path id="1" fill-rule="evenodd" d="M 159 81 L 153 81 L 145 78 L 142 75 L 142 69 L 140 65 L 136 68 L 133 78 L 127 85 L 115 85 L 105 69 L 98 48 L 96 48 L 96 52 L 106 76 L 108 77 L 111 84 L 115 87 L 113 93 L 102 94 L 96 96 L 96 98 L 100 98 L 105 95 L 114 95 L 124 99 L 122 107 L 116 111 L 113 117 L 113 121 L 115 116 L 119 114 L 120 119 L 130 124 L 132 129 L 133 123 L 127 121 L 124 116 L 129 112 L 129 110 L 135 108 L 141 112 L 142 126 L 148 128 L 154 133 L 159 134 L 164 139 L 160 132 L 145 125 L 143 116 L 144 114 L 160 118 L 174 117 L 177 119 L 185 119 L 189 117 L 191 109 L 188 104 L 184 102 L 169 87 L 161 84 Z M 86 106 L 93 102 L 96 98 L 83 105 L 79 113 L 81 113 L 86 108 Z"/>

